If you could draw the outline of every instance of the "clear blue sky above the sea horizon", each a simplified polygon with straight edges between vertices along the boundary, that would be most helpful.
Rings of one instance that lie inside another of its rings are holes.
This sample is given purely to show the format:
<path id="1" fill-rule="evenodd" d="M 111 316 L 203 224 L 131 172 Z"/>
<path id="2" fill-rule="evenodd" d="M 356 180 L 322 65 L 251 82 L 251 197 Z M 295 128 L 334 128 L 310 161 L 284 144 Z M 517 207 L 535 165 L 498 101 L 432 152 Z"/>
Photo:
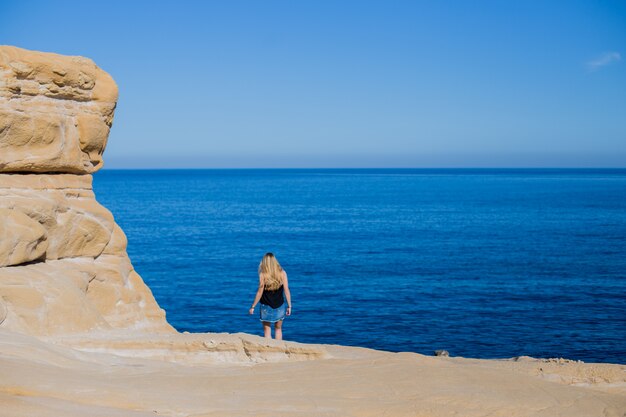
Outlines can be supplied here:
<path id="1" fill-rule="evenodd" d="M 624 1 L 10 1 L 84 55 L 106 167 L 626 167 Z"/>

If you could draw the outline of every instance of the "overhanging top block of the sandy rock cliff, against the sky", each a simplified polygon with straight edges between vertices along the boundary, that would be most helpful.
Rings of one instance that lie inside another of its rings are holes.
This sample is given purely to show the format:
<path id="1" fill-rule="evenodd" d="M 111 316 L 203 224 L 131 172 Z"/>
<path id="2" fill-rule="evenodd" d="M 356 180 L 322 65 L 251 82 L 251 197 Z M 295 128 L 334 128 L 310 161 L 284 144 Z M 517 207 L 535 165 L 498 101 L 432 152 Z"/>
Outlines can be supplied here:
<path id="1" fill-rule="evenodd" d="M 95 172 L 116 101 L 90 59 L 0 46 L 0 172 Z"/>

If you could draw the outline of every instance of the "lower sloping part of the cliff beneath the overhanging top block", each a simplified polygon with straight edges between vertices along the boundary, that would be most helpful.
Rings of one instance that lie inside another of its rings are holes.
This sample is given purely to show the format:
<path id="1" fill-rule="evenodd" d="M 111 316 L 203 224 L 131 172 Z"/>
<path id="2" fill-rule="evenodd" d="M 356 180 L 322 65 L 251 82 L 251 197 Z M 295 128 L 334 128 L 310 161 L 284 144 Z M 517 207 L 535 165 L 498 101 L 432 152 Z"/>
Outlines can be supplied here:
<path id="1" fill-rule="evenodd" d="M 2 326 L 37 335 L 173 330 L 91 183 L 90 175 L 0 174 L 1 264 L 45 260 L 0 268 Z"/>

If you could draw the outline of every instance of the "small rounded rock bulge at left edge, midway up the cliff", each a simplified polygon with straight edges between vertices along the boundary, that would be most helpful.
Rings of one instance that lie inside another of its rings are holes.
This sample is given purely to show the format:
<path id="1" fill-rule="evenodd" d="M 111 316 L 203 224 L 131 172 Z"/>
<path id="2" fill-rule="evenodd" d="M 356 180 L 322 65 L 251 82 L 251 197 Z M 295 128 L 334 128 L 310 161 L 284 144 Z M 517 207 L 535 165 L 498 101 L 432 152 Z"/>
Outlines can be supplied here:
<path id="1" fill-rule="evenodd" d="M 42 225 L 21 211 L 0 209 L 0 267 L 39 259 L 47 248 Z"/>

